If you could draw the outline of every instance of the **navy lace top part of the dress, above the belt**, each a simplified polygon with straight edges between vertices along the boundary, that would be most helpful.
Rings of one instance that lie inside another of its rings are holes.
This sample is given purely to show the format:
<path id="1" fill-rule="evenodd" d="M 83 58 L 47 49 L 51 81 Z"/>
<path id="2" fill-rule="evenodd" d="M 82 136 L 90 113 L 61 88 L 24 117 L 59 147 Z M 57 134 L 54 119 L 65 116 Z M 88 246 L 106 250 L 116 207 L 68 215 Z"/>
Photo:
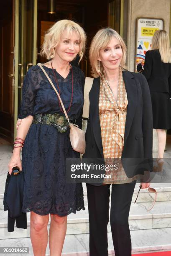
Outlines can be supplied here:
<path id="1" fill-rule="evenodd" d="M 54 83 L 56 90 L 59 92 L 54 79 L 53 70 L 43 66 L 48 76 Z M 82 87 L 84 84 L 84 73 L 77 67 L 73 69 L 73 101 L 71 110 L 69 111 L 69 119 L 77 119 L 80 115 L 84 104 Z M 56 72 L 56 70 L 54 70 Z M 56 76 L 61 90 L 61 100 L 64 102 L 64 107 L 69 108 L 71 100 L 71 70 L 68 76 L 64 79 L 58 72 Z M 33 66 L 28 69 L 26 77 L 23 81 L 22 102 L 20 106 L 20 114 L 18 118 L 26 118 L 28 115 L 37 115 L 41 113 L 54 114 L 61 113 L 59 102 L 51 84 L 39 66 Z"/>

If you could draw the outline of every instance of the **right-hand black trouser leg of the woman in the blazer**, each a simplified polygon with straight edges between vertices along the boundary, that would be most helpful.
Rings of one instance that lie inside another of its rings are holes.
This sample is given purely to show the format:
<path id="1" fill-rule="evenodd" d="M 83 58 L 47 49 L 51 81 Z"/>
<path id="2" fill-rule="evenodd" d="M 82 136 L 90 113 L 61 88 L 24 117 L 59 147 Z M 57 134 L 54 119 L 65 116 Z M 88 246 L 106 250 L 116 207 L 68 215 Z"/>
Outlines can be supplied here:
<path id="1" fill-rule="evenodd" d="M 110 225 L 115 256 L 131 256 L 128 217 L 135 184 L 112 184 Z"/>

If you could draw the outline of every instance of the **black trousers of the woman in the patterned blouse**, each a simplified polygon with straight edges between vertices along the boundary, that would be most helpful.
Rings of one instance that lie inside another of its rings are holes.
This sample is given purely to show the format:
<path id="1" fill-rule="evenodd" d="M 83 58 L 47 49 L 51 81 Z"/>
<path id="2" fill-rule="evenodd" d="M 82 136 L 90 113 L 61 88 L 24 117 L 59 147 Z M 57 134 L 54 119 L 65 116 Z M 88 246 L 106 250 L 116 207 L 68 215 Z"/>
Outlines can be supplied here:
<path id="1" fill-rule="evenodd" d="M 136 181 L 112 184 L 110 225 L 115 256 L 131 256 L 128 217 L 135 184 Z M 89 255 L 108 256 L 110 184 L 99 187 L 86 185 L 89 208 Z"/>

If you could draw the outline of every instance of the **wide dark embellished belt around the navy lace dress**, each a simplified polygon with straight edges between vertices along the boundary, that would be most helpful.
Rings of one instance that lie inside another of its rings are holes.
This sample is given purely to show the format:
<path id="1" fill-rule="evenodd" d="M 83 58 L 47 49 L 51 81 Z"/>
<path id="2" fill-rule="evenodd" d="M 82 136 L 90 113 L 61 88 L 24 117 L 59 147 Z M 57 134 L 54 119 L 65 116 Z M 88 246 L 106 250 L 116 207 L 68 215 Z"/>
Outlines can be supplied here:
<path id="1" fill-rule="evenodd" d="M 74 120 L 76 121 L 76 120 Z M 73 120 L 71 121 L 72 123 Z M 33 123 L 41 123 L 41 124 L 47 124 L 47 125 L 53 125 L 58 131 L 59 133 L 64 133 L 67 131 L 68 127 L 69 127 L 69 123 L 66 120 L 65 116 L 62 116 L 58 113 L 54 113 L 54 114 L 45 114 L 45 113 L 41 113 L 41 114 L 37 114 L 34 116 L 33 118 Z"/>

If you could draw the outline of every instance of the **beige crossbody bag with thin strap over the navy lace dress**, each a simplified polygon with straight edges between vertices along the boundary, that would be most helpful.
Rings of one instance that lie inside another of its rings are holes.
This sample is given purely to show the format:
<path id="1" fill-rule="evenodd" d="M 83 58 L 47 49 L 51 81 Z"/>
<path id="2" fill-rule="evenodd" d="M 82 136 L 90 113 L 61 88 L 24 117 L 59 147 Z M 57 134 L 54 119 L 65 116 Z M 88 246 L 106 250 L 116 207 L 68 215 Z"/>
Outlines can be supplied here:
<path id="1" fill-rule="evenodd" d="M 74 151 L 77 151 L 77 152 L 79 152 L 81 154 L 84 154 L 84 152 L 85 152 L 85 132 L 83 130 L 79 129 L 78 125 L 69 122 L 69 117 L 68 117 L 68 115 L 66 113 L 64 104 L 63 104 L 63 102 L 61 100 L 61 97 L 60 97 L 59 93 L 57 92 L 53 82 L 51 81 L 50 77 L 48 76 L 48 74 L 46 73 L 44 68 L 42 67 L 43 65 L 41 63 L 38 63 L 38 66 L 41 68 L 43 73 L 46 75 L 48 81 L 50 82 L 51 86 L 54 88 L 54 90 L 55 90 L 55 92 L 56 92 L 56 94 L 57 94 L 57 96 L 59 98 L 59 101 L 60 101 L 61 106 L 63 108 L 64 114 L 66 116 L 66 120 L 69 123 L 69 127 L 70 127 L 69 138 L 70 138 L 70 141 L 71 141 L 72 148 L 74 149 Z M 85 92 L 85 89 L 84 89 L 84 92 Z M 84 105 L 85 105 L 85 102 L 84 102 Z M 84 110 L 83 110 L 83 112 L 84 112 Z"/>

